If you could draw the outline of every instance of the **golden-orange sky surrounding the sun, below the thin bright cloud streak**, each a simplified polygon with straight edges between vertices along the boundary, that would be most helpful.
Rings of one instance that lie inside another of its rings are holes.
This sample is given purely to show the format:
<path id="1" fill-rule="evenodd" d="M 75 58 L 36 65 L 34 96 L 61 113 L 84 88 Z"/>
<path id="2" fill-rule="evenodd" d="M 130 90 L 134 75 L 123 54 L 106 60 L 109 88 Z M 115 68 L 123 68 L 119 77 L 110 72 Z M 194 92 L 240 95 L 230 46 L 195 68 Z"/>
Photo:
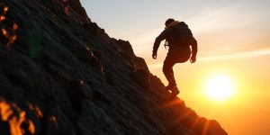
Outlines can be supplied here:
<path id="1" fill-rule="evenodd" d="M 174 67 L 179 95 L 199 115 L 220 121 L 229 134 L 270 134 L 270 56 L 215 59 L 195 64 L 184 63 Z M 151 69 L 166 84 L 160 68 Z M 236 85 L 236 94 L 228 101 L 216 102 L 205 96 L 205 80 L 212 74 L 230 76 Z M 260 133 L 258 133 L 260 132 Z"/>

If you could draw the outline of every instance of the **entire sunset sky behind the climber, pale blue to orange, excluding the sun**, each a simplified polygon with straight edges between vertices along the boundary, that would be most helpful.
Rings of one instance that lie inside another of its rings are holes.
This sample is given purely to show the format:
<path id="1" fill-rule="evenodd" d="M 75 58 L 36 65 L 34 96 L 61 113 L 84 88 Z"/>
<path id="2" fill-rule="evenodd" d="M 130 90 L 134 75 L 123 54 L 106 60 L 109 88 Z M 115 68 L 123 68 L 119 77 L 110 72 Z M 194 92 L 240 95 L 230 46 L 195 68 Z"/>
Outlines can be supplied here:
<path id="1" fill-rule="evenodd" d="M 269 135 L 270 123 L 270 1 L 124 1 L 81 0 L 93 22 L 111 37 L 129 40 L 135 54 L 162 79 L 166 49 L 151 58 L 153 42 L 168 17 L 184 21 L 198 40 L 194 64 L 177 64 L 179 97 L 199 115 L 215 119 L 229 135 Z M 225 74 L 236 93 L 223 102 L 205 96 L 213 74 Z"/>

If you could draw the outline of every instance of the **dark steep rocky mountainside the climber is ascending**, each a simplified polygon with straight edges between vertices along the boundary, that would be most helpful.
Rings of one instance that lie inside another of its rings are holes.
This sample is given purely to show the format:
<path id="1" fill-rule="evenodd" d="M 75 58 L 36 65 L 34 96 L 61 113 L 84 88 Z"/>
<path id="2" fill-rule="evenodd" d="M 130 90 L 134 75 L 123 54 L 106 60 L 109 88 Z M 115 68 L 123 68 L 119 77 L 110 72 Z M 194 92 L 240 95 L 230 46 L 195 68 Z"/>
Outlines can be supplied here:
<path id="1" fill-rule="evenodd" d="M 1 20 L 1 134 L 227 134 L 184 101 L 167 102 L 164 85 L 129 41 L 110 38 L 79 0 L 2 5 L 18 29 Z M 16 35 L 12 45 L 4 30 Z"/>

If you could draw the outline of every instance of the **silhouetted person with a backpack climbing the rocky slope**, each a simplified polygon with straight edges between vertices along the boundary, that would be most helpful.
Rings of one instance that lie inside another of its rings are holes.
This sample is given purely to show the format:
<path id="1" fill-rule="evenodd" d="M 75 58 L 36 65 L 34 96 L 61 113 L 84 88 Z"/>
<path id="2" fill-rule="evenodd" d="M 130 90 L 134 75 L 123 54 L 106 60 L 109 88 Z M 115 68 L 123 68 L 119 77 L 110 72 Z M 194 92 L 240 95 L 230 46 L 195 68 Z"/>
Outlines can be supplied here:
<path id="1" fill-rule="evenodd" d="M 170 99 L 172 99 L 180 93 L 175 83 L 173 67 L 176 63 L 184 63 L 188 59 L 190 59 L 191 63 L 196 61 L 197 40 L 193 38 L 192 31 L 184 22 L 178 22 L 169 18 L 166 20 L 165 25 L 165 30 L 155 40 L 152 58 L 157 59 L 159 44 L 162 40 L 166 40 L 165 48 L 168 46 L 169 49 L 162 70 L 168 81 L 166 90 L 170 92 Z"/>

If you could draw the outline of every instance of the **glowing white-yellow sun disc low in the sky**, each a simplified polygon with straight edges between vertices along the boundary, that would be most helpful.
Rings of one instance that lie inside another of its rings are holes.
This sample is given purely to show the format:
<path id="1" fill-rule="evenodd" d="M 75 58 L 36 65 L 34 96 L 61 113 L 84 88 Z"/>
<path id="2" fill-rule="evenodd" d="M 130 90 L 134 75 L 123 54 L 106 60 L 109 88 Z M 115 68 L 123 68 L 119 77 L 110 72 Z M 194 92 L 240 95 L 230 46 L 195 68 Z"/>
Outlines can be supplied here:
<path id="1" fill-rule="evenodd" d="M 205 84 L 205 94 L 214 101 L 225 101 L 235 92 L 232 79 L 226 75 L 209 77 Z"/>

